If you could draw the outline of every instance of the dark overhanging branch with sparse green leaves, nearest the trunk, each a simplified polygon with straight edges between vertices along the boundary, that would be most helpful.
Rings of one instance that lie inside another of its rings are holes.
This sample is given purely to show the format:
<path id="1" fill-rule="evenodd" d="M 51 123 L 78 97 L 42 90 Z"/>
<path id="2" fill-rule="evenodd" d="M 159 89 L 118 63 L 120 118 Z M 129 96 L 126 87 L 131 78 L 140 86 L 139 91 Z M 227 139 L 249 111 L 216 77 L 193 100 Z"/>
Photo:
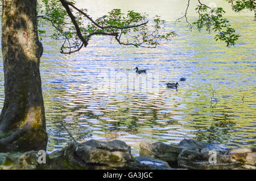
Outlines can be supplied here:
<path id="1" fill-rule="evenodd" d="M 86 12 L 84 12 L 82 9 L 77 8 L 71 2 L 68 2 L 66 0 L 60 0 L 60 2 L 61 2 L 61 5 L 64 7 L 65 11 L 67 12 L 67 15 L 71 19 L 73 26 L 75 26 L 75 28 L 69 28 L 69 31 L 71 32 L 65 31 L 64 30 L 65 26 L 60 27 L 60 29 L 58 28 L 59 25 L 57 26 L 57 28 L 55 26 L 56 30 L 65 37 L 65 41 L 61 47 L 61 51 L 60 51 L 61 53 L 71 54 L 71 53 L 78 52 L 82 47 L 86 47 L 88 45 L 88 41 L 90 40 L 90 37 L 92 37 L 93 35 L 114 36 L 115 40 L 117 40 L 117 42 L 121 45 L 134 45 L 135 47 L 146 47 L 146 48 L 155 48 L 157 45 L 159 45 L 160 40 L 165 39 L 168 41 L 170 37 L 175 36 L 174 32 L 165 33 L 165 31 L 159 31 L 162 24 L 164 23 L 163 20 L 160 20 L 158 18 L 159 16 L 155 16 L 155 19 L 154 19 L 155 26 L 152 26 L 155 30 L 151 31 L 146 26 L 146 24 L 148 23 L 146 16 L 143 16 L 140 13 L 130 11 L 129 12 L 130 14 L 129 15 L 127 14 L 127 17 L 131 18 L 131 20 L 122 22 L 121 19 L 115 19 L 117 23 L 112 22 L 112 23 L 104 24 L 100 22 L 101 21 L 100 18 L 97 20 L 93 20 L 92 18 L 90 18 L 88 14 L 86 14 Z M 72 10 L 76 10 L 79 13 L 79 18 L 77 18 L 73 14 L 74 12 Z M 114 9 L 114 10 L 118 10 L 118 9 Z M 134 13 L 134 14 L 131 14 L 131 13 Z M 87 28 L 84 28 L 83 24 L 80 22 L 80 19 L 81 19 L 80 15 L 85 16 L 85 18 L 89 20 L 89 25 Z M 111 19 L 112 15 L 110 14 L 109 17 Z M 102 20 L 104 20 L 104 18 Z M 120 26 L 119 26 L 119 22 L 121 24 Z M 138 24 L 131 24 L 131 23 L 138 23 Z M 75 29 L 75 31 L 73 31 L 73 29 Z M 138 33 L 138 35 L 129 35 L 129 33 L 132 34 L 133 32 Z M 122 37 L 126 36 L 127 41 L 122 41 L 121 36 Z M 127 36 L 131 36 L 133 40 L 132 41 L 128 40 Z M 73 40 L 74 43 L 71 44 L 69 39 Z M 80 43 L 79 43 L 79 40 L 81 41 Z M 69 49 L 69 50 L 68 52 L 64 52 L 64 49 Z"/>

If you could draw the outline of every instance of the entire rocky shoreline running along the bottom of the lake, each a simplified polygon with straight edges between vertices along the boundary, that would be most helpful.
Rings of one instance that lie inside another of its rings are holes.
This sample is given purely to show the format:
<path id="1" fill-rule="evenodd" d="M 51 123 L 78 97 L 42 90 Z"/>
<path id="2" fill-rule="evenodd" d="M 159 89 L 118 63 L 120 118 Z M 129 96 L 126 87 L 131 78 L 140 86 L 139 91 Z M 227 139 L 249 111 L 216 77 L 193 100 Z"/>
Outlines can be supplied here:
<path id="1" fill-rule="evenodd" d="M 133 157 L 125 142 L 89 140 L 69 143 L 46 154 L 39 163 L 38 151 L 0 153 L 0 170 L 6 169 L 256 169 L 256 148 L 229 149 L 221 145 L 182 140 L 178 145 L 141 142 L 140 156 Z"/>

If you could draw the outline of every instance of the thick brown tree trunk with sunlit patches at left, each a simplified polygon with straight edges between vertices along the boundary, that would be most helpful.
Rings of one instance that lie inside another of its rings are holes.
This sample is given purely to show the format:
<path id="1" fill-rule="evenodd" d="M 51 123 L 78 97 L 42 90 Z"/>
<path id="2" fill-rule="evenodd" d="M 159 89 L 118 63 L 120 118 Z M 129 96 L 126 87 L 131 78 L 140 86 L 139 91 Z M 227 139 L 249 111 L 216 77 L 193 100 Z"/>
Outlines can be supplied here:
<path id="1" fill-rule="evenodd" d="M 3 0 L 5 103 L 0 116 L 0 152 L 45 150 L 47 145 L 39 71 L 43 47 L 36 5 L 36 0 Z"/>

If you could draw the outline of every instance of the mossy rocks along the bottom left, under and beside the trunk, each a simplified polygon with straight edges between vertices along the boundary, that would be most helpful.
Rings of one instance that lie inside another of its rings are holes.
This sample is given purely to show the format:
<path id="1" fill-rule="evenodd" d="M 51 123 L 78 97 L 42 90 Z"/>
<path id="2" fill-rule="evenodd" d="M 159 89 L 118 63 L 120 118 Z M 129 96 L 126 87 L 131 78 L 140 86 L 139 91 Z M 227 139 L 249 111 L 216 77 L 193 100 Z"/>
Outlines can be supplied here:
<path id="1" fill-rule="evenodd" d="M 130 152 L 123 141 L 89 140 L 47 154 L 46 164 L 38 162 L 37 151 L 1 153 L 0 169 L 125 169 L 135 161 Z M 142 168 L 141 163 L 136 165 Z"/>

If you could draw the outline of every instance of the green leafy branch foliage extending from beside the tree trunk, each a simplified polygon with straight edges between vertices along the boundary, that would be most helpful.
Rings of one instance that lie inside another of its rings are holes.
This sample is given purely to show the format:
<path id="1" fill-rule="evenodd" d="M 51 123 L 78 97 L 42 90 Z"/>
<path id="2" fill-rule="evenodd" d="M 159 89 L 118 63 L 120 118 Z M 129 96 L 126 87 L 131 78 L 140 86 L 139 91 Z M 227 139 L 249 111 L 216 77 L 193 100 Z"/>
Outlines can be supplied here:
<path id="1" fill-rule="evenodd" d="M 86 47 L 94 35 L 112 36 L 119 44 L 147 48 L 155 48 L 176 35 L 165 32 L 165 22 L 159 16 L 149 22 L 147 14 L 134 11 L 125 15 L 120 9 L 114 9 L 93 20 L 86 9 L 78 9 L 73 2 L 42 0 L 39 13 L 39 17 L 55 27 L 52 37 L 64 39 L 61 53 L 77 52 Z M 39 33 L 44 32 L 40 30 Z"/>

